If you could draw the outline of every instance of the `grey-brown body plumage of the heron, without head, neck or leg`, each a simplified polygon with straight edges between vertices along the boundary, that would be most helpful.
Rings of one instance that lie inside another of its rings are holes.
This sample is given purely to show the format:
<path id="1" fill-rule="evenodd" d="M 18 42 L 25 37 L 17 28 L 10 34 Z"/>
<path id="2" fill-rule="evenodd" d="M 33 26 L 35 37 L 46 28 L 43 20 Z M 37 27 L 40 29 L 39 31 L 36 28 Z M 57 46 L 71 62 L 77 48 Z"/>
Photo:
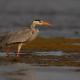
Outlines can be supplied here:
<path id="1" fill-rule="evenodd" d="M 30 28 L 24 28 L 16 32 L 8 32 L 0 36 L 0 42 L 3 46 L 5 46 L 5 44 L 21 42 L 24 43 L 26 41 L 32 41 L 37 37 L 38 32 L 38 29 L 33 32 Z"/>

